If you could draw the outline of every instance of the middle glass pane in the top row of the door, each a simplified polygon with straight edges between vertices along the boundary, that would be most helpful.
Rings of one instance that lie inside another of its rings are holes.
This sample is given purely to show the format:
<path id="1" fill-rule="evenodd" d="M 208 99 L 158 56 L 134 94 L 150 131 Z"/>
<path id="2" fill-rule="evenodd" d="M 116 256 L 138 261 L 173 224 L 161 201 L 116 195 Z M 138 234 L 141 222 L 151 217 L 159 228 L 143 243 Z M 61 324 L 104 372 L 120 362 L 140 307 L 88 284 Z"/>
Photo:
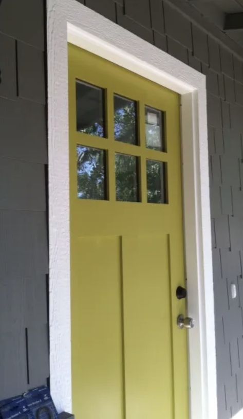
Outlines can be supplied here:
<path id="1" fill-rule="evenodd" d="M 137 144 L 137 103 L 121 96 L 114 96 L 115 140 Z"/>

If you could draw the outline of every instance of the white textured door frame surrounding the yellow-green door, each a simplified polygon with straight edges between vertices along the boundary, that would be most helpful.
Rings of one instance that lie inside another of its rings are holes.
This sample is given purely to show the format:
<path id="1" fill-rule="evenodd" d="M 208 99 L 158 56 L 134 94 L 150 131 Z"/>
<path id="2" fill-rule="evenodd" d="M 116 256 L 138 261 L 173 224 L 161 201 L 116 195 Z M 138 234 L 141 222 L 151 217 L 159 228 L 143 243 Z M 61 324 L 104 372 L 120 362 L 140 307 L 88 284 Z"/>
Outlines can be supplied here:
<path id="1" fill-rule="evenodd" d="M 98 1 L 98 0 L 97 0 Z M 75 0 L 47 0 L 50 383 L 71 412 L 67 41 L 181 95 L 191 419 L 217 418 L 205 76 Z"/>

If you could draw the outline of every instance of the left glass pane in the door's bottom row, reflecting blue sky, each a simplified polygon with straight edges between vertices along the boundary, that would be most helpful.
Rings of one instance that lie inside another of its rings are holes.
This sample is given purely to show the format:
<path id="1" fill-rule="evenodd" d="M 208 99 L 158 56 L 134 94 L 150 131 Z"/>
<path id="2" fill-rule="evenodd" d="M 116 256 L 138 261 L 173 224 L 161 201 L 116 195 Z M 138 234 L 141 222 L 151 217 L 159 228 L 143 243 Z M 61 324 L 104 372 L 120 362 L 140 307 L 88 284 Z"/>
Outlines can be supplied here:
<path id="1" fill-rule="evenodd" d="M 78 198 L 106 199 L 105 151 L 77 145 Z"/>

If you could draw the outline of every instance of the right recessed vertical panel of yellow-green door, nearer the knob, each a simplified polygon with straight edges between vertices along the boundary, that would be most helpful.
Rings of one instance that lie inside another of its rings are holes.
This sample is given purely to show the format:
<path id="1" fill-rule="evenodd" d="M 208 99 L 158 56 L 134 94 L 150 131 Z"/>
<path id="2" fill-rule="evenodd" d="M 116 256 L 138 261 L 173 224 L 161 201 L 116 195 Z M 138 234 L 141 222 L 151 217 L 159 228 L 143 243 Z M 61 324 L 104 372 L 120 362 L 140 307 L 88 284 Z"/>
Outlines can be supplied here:
<path id="1" fill-rule="evenodd" d="M 122 259 L 126 418 L 173 417 L 167 236 L 124 237 Z"/>

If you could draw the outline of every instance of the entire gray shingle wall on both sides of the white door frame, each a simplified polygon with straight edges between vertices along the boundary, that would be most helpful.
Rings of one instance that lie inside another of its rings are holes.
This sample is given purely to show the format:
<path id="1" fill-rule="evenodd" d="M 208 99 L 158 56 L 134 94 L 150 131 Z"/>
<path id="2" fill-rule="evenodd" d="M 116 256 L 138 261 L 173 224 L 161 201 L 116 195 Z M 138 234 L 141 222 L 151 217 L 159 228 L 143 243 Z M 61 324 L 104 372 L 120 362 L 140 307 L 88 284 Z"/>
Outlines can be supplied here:
<path id="1" fill-rule="evenodd" d="M 233 54 L 216 28 L 213 38 L 208 23 L 184 4 L 86 0 L 207 75 L 218 416 L 228 419 L 243 399 L 243 68 L 241 50 Z M 49 375 L 43 7 L 42 0 L 0 6 L 0 399 L 44 384 Z"/>

